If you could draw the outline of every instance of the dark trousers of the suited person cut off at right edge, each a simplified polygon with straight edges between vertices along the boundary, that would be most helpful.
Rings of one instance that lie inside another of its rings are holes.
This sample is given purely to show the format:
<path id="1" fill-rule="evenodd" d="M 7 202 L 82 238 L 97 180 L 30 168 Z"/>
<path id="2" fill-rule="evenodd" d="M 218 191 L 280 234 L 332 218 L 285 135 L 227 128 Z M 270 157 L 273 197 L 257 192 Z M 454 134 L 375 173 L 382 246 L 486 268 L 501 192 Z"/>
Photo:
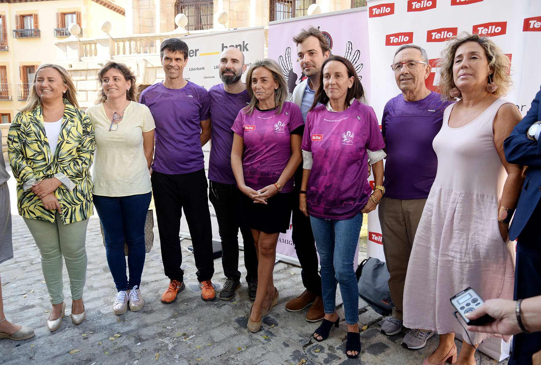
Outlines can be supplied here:
<path id="1" fill-rule="evenodd" d="M 541 295 L 539 220 L 541 220 L 541 201 L 517 239 L 514 300 Z M 531 365 L 532 355 L 539 350 L 541 350 L 541 332 L 515 335 L 509 365 Z"/>

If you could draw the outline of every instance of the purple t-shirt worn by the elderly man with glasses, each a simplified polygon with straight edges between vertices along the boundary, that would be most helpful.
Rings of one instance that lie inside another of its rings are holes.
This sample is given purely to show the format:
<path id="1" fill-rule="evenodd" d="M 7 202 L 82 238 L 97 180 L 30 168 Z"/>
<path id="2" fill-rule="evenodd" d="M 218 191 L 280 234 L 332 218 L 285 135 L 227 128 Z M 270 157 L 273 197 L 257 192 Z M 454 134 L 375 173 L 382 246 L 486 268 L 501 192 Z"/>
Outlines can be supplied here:
<path id="1" fill-rule="evenodd" d="M 437 92 L 416 102 L 406 102 L 402 94 L 387 102 L 381 118 L 387 145 L 385 197 L 428 198 L 438 168 L 432 140 L 441 129 L 445 108 L 451 104 L 441 101 Z"/>

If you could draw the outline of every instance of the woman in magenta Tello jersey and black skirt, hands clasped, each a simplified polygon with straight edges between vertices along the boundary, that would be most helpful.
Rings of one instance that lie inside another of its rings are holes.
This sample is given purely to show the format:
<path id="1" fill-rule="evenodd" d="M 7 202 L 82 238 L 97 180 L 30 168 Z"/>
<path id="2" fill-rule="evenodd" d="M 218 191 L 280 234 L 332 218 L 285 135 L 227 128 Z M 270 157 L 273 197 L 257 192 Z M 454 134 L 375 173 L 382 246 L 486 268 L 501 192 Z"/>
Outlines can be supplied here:
<path id="1" fill-rule="evenodd" d="M 250 103 L 232 127 L 231 167 L 243 193 L 240 226 L 252 230 L 259 260 L 258 290 L 247 326 L 257 332 L 262 316 L 278 302 L 272 273 L 276 243 L 289 228 L 304 121 L 299 107 L 286 102 L 286 81 L 274 60 L 258 60 L 250 67 L 246 90 Z"/>

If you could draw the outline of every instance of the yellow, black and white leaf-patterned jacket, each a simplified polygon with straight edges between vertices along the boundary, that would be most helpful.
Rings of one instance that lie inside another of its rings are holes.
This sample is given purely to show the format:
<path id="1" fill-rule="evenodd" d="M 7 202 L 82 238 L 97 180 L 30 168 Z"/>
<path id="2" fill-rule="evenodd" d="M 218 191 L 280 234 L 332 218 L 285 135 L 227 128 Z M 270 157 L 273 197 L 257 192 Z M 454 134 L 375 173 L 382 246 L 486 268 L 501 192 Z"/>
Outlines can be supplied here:
<path id="1" fill-rule="evenodd" d="M 11 171 L 17 180 L 17 207 L 25 218 L 55 221 L 55 210 L 45 209 L 32 192 L 31 183 L 57 177 L 63 184 L 55 191 L 62 207 L 63 224 L 85 220 L 93 214 L 90 165 L 96 143 L 87 114 L 64 99 L 60 136 L 54 156 L 43 126 L 41 106 L 17 113 L 8 134 Z"/>

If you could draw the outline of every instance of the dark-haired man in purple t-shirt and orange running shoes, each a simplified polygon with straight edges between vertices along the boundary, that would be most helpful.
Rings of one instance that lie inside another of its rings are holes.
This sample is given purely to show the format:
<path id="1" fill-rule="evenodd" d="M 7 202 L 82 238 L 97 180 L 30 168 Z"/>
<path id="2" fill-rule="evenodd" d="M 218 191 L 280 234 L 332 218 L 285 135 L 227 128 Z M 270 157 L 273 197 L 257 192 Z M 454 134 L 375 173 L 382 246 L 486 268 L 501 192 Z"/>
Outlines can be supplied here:
<path id="1" fill-rule="evenodd" d="M 208 92 L 183 78 L 188 62 L 185 42 L 164 40 L 160 57 L 166 77 L 163 83 L 147 87 L 139 102 L 149 107 L 156 124 L 151 182 L 163 268 L 170 279 L 161 300 L 173 303 L 186 287 L 179 239 L 182 208 L 192 237 L 201 298 L 213 300 L 212 226 L 202 150 L 210 139 Z"/>

